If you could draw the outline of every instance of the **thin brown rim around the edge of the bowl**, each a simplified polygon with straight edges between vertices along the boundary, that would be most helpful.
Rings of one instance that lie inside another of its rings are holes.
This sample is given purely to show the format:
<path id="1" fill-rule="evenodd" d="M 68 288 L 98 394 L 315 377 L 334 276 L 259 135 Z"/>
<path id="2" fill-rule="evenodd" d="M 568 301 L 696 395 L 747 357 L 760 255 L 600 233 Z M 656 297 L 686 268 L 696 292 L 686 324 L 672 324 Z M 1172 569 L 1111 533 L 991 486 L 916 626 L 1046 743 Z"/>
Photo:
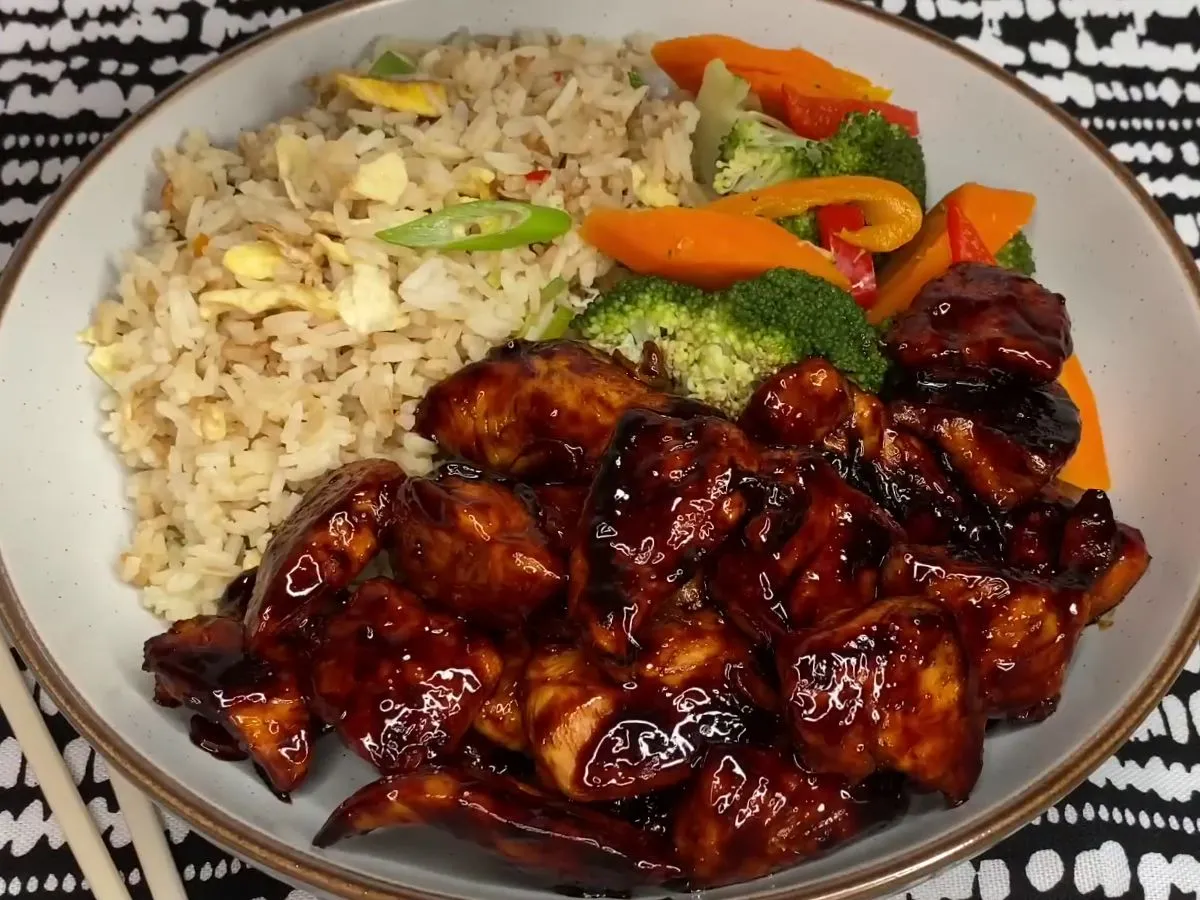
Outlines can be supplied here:
<path id="1" fill-rule="evenodd" d="M 300 16 L 280 28 L 258 35 L 232 50 L 210 60 L 186 76 L 170 89 L 142 107 L 119 128 L 109 134 L 76 168 L 46 208 L 30 226 L 18 244 L 2 275 L 0 275 L 0 316 L 4 314 L 16 293 L 16 286 L 29 258 L 36 251 L 41 236 L 52 227 L 54 217 L 74 193 L 89 173 L 107 154 L 112 152 L 140 122 L 179 94 L 199 86 L 208 76 L 245 54 L 254 53 L 268 42 L 283 40 L 293 31 L 318 22 L 383 5 L 389 0 L 337 0 L 320 10 Z M 1200 308 L 1200 270 L 1190 251 L 1183 245 L 1162 208 L 1146 192 L 1134 175 L 1122 166 L 1094 136 L 1058 106 L 1038 94 L 1020 79 L 998 66 L 955 43 L 950 38 L 924 25 L 901 19 L 881 10 L 864 6 L 854 0 L 820 0 L 850 10 L 874 19 L 888 28 L 900 29 L 931 42 L 955 56 L 986 72 L 1033 102 L 1064 127 L 1076 140 L 1112 172 L 1127 191 L 1158 228 L 1171 248 L 1176 262 L 1192 284 L 1193 299 Z M 449 900 L 445 895 L 431 894 L 410 888 L 400 888 L 382 880 L 348 871 L 332 862 L 319 859 L 304 848 L 296 848 L 272 838 L 259 840 L 250 829 L 233 817 L 216 809 L 203 797 L 184 791 L 173 779 L 150 760 L 138 755 L 113 728 L 100 719 L 67 682 L 58 664 L 50 658 L 46 646 L 34 630 L 25 610 L 17 599 L 16 589 L 0 554 L 0 625 L 29 665 L 37 682 L 49 692 L 67 720 L 97 751 L 125 774 L 149 797 L 170 810 L 188 826 L 223 847 L 265 866 L 276 875 L 302 883 L 305 887 L 324 890 L 348 900 Z M 1084 781 L 1104 760 L 1121 746 L 1138 725 L 1153 710 L 1170 689 L 1183 668 L 1193 648 L 1200 640 L 1200 594 L 1192 598 L 1186 625 L 1171 647 L 1163 654 L 1151 676 L 1140 685 L 1124 708 L 1116 710 L 1112 724 L 1096 742 L 1081 746 L 1034 785 L 1014 797 L 992 814 L 982 817 L 958 834 L 917 847 L 896 859 L 862 869 L 848 875 L 832 876 L 798 888 L 762 890 L 749 895 L 749 900 L 869 900 L 901 890 L 912 883 L 934 875 L 936 871 L 968 859 L 991 847 L 1046 808 L 1057 803 L 1076 785 Z"/>

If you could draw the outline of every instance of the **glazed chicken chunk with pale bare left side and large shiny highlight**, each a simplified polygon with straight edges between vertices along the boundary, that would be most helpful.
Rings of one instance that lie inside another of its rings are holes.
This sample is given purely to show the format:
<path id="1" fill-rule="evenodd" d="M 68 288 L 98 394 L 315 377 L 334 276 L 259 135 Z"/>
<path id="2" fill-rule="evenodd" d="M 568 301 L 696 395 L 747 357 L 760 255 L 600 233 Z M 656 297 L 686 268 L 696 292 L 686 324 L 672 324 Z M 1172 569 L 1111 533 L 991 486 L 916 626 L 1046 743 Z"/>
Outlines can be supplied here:
<path id="1" fill-rule="evenodd" d="M 526 670 L 524 720 L 547 784 L 614 800 L 685 780 L 708 742 L 740 742 L 776 704 L 750 647 L 713 610 L 668 606 L 632 665 L 551 641 Z"/>

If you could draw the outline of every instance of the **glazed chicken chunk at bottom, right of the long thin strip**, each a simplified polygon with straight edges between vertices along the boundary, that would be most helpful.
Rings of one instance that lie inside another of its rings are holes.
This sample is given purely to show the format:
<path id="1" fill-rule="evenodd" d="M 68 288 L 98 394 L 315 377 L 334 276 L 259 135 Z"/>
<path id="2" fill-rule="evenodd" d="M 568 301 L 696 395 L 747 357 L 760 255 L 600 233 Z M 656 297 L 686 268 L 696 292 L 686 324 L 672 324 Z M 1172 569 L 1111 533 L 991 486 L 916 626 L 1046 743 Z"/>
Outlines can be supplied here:
<path id="1" fill-rule="evenodd" d="M 678 806 L 673 839 L 689 887 L 770 875 L 898 816 L 898 778 L 851 785 L 805 772 L 791 752 L 714 746 Z"/>

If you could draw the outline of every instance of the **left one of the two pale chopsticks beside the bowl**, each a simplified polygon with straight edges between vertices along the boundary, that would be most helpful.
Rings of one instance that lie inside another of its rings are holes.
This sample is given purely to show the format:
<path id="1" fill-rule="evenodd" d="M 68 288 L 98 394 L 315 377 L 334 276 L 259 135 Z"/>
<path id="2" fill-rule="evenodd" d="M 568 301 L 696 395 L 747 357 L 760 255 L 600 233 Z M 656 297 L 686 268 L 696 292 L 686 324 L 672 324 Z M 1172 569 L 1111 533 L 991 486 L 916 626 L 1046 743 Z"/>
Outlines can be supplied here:
<path id="1" fill-rule="evenodd" d="M 59 821 L 92 896 L 96 900 L 131 900 L 125 880 L 76 790 L 74 778 L 25 688 L 7 641 L 0 641 L 0 709 L 4 709 L 17 743 L 34 767 L 42 794 Z"/>

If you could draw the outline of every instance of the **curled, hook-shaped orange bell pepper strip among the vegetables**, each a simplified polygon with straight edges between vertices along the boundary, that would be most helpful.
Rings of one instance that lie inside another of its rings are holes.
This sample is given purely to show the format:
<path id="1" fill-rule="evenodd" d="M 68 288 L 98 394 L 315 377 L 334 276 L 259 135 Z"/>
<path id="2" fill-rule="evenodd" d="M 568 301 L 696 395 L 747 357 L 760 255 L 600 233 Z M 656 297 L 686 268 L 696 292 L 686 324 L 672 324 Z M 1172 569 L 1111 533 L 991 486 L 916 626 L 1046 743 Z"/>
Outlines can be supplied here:
<path id="1" fill-rule="evenodd" d="M 902 247 L 920 230 L 920 202 L 895 181 L 868 175 L 833 175 L 781 181 L 761 191 L 730 194 L 704 209 L 742 216 L 781 218 L 818 206 L 852 203 L 866 216 L 866 227 L 838 236 L 872 253 Z"/>

